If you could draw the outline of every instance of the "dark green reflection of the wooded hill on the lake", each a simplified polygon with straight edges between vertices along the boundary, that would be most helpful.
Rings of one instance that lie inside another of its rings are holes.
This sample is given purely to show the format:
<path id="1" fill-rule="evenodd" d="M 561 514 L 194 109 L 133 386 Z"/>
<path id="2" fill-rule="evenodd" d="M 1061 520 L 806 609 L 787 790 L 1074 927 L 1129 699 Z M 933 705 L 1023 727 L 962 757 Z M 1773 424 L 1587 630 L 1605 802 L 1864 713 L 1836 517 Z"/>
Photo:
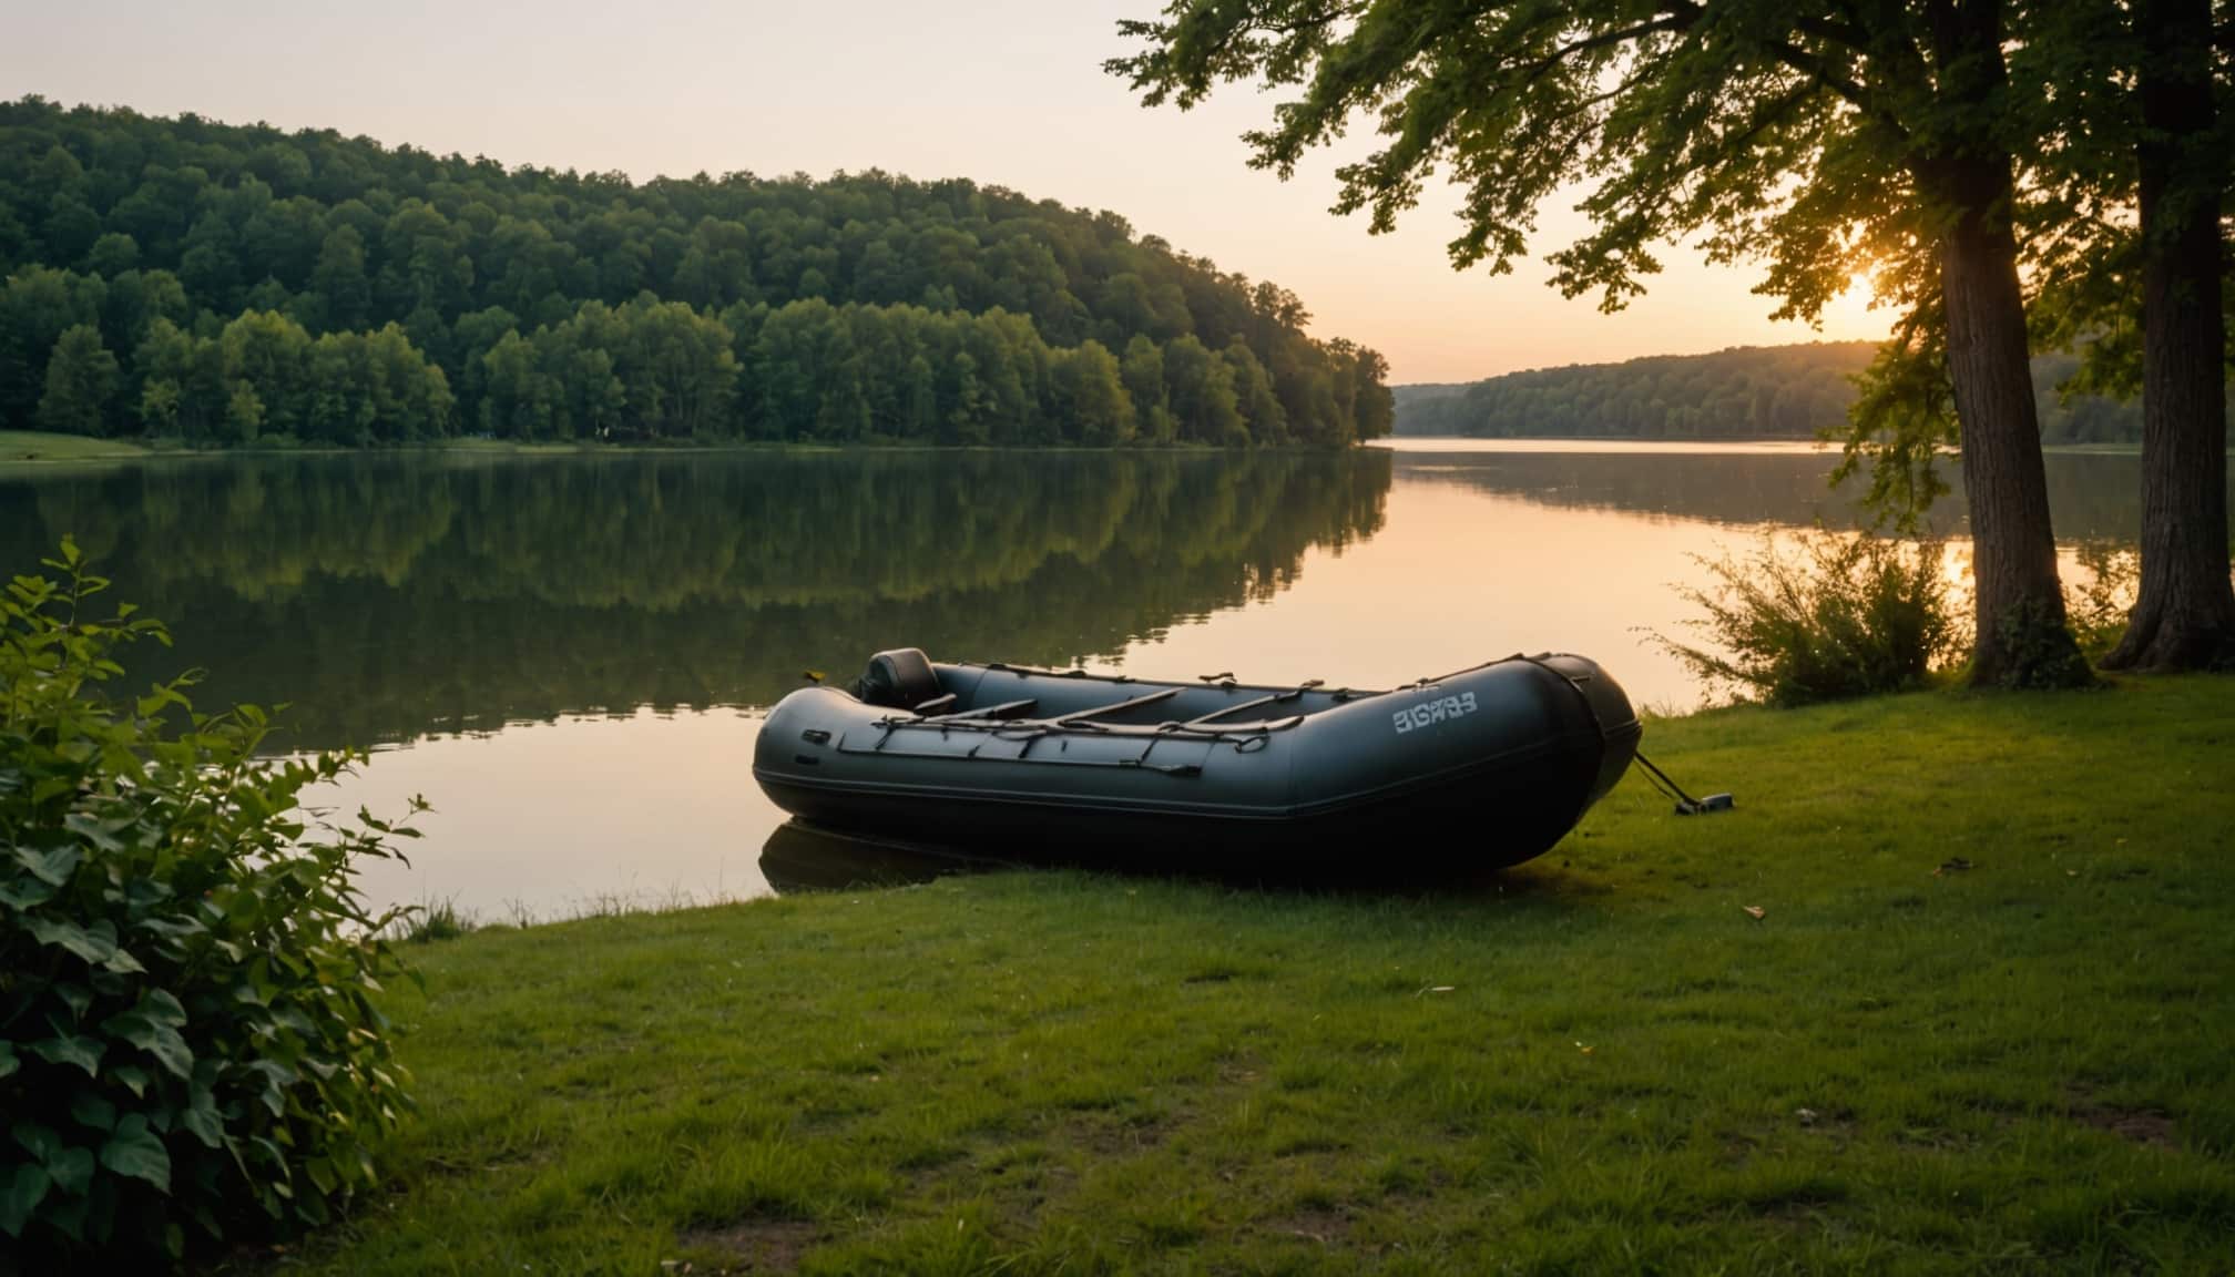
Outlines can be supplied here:
<path id="1" fill-rule="evenodd" d="M 1366 456 L 320 456 L 0 483 L 288 747 L 767 704 L 896 642 L 1068 664 L 1381 526 Z M 25 555 L 29 561 L 29 555 Z"/>

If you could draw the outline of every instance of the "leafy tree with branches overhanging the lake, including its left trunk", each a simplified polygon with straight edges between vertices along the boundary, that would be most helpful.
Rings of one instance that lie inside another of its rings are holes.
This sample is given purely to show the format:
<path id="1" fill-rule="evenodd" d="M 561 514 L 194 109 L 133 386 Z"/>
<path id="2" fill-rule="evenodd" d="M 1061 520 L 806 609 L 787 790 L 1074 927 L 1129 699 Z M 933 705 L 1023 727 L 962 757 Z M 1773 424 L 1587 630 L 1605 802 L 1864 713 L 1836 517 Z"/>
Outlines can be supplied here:
<path id="1" fill-rule="evenodd" d="M 1334 212 L 1366 210 L 1386 233 L 1444 177 L 1464 197 L 1455 268 L 1513 271 L 1542 204 L 1580 190 L 1591 226 L 1547 255 L 1551 284 L 1607 311 L 1647 288 L 1672 239 L 1766 264 L 1759 291 L 1804 322 L 1871 271 L 1909 335 L 1860 427 L 1915 465 L 1931 456 L 1918 441 L 1938 438 L 1920 423 L 1953 407 L 1974 678 L 2072 684 L 2087 669 L 2065 626 L 2027 376 L 2012 221 L 2025 121 L 2005 25 L 2003 0 L 1173 0 L 1120 22 L 1140 49 L 1106 69 L 1147 105 L 1189 107 L 1234 81 L 1292 87 L 1245 134 L 1252 163 L 1283 177 L 1370 121 L 1379 148 L 1337 170 Z"/>

